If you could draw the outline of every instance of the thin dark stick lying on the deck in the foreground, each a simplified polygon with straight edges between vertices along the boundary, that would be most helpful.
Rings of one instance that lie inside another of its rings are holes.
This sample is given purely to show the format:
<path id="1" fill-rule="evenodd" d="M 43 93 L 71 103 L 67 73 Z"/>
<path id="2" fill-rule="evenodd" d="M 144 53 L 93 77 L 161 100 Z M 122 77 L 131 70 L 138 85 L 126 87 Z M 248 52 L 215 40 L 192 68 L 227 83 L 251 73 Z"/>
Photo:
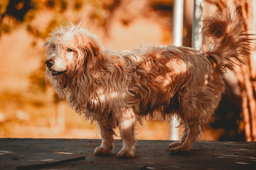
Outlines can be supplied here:
<path id="1" fill-rule="evenodd" d="M 38 168 L 46 168 L 46 167 L 61 165 L 63 163 L 70 163 L 70 162 L 80 161 L 80 160 L 85 160 L 85 157 L 83 156 L 83 157 L 77 157 L 77 158 L 73 158 L 73 159 L 66 159 L 63 161 L 40 163 L 40 164 L 35 164 L 35 165 L 17 166 L 16 170 L 31 170 L 31 169 L 38 169 Z"/>

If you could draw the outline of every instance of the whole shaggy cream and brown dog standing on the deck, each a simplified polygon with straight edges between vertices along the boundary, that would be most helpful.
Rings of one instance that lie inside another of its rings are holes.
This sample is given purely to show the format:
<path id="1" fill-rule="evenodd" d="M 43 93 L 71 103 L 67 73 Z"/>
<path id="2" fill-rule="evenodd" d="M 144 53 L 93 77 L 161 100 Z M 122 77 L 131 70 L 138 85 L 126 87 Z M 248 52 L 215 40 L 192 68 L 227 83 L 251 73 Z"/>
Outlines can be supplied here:
<path id="1" fill-rule="evenodd" d="M 117 53 L 104 49 L 97 36 L 78 26 L 50 33 L 47 75 L 61 99 L 77 113 L 97 121 L 102 137 L 95 155 L 113 150 L 112 129 L 119 128 L 123 146 L 117 157 L 134 157 L 135 124 L 160 114 L 176 116 L 184 132 L 170 151 L 189 151 L 202 125 L 216 110 L 225 91 L 222 80 L 234 59 L 249 55 L 251 38 L 245 20 L 227 9 L 204 21 L 207 50 L 184 46 L 144 46 Z"/>

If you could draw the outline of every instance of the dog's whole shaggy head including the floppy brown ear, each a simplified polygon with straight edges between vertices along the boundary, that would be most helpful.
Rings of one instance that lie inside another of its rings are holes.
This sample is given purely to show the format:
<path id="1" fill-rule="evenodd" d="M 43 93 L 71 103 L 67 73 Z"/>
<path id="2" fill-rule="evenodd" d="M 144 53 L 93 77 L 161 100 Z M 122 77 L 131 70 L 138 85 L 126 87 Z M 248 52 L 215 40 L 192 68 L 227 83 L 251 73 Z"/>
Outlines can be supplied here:
<path id="1" fill-rule="evenodd" d="M 49 33 L 43 46 L 47 47 L 47 76 L 56 80 L 81 74 L 88 67 L 97 67 L 104 52 L 97 36 L 80 24 L 56 28 Z"/>

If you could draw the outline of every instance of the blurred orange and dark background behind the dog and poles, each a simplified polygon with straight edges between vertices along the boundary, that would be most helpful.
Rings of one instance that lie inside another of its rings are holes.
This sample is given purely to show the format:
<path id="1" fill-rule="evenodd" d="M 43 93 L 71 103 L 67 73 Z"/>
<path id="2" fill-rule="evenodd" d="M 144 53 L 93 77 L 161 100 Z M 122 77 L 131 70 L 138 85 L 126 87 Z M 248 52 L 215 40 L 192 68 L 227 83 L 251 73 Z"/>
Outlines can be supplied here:
<path id="1" fill-rule="evenodd" d="M 242 11 L 254 33 L 254 0 L 204 0 L 204 17 L 216 3 Z M 173 44 L 173 0 L 0 0 L 0 15 L 1 138 L 100 138 L 97 126 L 60 101 L 45 82 L 41 44 L 54 27 L 81 22 L 106 49 L 116 51 Z M 184 46 L 191 46 L 192 18 L 193 0 L 184 0 Z M 227 92 L 202 140 L 256 140 L 254 53 L 245 62 L 225 77 Z M 168 121 L 144 121 L 137 129 L 138 139 L 170 139 Z"/>

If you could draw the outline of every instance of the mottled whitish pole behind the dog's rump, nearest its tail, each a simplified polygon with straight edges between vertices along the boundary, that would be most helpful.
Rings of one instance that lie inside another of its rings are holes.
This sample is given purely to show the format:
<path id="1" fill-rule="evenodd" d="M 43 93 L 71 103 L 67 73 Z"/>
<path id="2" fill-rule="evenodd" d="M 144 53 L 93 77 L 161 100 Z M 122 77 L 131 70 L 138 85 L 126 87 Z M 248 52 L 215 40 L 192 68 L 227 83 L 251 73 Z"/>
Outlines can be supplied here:
<path id="1" fill-rule="evenodd" d="M 200 50 L 202 48 L 202 23 L 203 20 L 203 0 L 194 0 L 193 26 L 192 26 L 192 48 Z"/>

